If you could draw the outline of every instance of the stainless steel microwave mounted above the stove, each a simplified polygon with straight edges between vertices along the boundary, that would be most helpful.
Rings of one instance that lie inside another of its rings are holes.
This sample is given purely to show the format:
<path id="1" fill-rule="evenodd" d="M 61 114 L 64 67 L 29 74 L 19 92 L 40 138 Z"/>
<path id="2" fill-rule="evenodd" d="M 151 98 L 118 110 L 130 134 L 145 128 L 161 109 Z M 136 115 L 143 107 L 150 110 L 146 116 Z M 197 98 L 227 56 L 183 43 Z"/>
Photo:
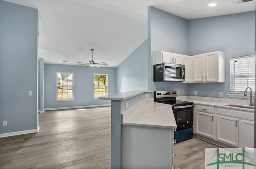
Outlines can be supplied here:
<path id="1" fill-rule="evenodd" d="M 185 81 L 185 66 L 170 63 L 154 65 L 154 82 Z"/>

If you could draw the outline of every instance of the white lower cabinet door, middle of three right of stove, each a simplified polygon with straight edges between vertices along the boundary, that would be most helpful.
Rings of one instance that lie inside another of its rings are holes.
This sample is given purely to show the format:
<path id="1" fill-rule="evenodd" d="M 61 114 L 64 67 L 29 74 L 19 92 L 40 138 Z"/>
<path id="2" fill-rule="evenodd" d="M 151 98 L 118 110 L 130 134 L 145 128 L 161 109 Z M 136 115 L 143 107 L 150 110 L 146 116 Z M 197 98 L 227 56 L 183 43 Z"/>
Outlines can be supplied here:
<path id="1" fill-rule="evenodd" d="M 238 147 L 238 119 L 217 116 L 217 140 Z"/>

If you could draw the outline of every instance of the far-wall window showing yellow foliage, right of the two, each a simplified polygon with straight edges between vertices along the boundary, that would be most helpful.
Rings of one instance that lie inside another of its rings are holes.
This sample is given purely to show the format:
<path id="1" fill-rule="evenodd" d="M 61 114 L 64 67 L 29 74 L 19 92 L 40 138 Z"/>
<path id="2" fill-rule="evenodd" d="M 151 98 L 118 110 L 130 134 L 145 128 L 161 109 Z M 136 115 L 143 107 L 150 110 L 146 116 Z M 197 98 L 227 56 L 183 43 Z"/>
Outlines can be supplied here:
<path id="1" fill-rule="evenodd" d="M 94 74 L 94 98 L 107 96 L 107 86 L 107 74 Z"/>

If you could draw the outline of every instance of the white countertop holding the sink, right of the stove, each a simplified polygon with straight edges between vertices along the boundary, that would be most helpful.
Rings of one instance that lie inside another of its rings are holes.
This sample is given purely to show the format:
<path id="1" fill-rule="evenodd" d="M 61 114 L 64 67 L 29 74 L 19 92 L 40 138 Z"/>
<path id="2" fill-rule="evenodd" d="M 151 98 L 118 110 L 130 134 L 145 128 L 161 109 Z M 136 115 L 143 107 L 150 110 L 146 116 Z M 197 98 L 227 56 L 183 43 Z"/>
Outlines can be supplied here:
<path id="1" fill-rule="evenodd" d="M 226 106 L 226 105 L 229 105 L 229 104 L 232 104 L 232 103 L 203 101 L 203 100 L 194 100 L 194 99 L 177 99 L 177 100 L 182 100 L 182 101 L 187 101 L 187 102 L 194 102 L 194 104 L 202 104 L 202 105 L 206 105 L 206 106 L 217 106 L 217 107 L 221 107 L 221 108 L 228 108 L 228 109 L 234 109 L 234 110 L 243 110 L 243 111 L 247 111 L 247 112 L 254 112 L 254 109 Z M 249 105 L 244 105 L 244 106 L 249 106 Z"/>

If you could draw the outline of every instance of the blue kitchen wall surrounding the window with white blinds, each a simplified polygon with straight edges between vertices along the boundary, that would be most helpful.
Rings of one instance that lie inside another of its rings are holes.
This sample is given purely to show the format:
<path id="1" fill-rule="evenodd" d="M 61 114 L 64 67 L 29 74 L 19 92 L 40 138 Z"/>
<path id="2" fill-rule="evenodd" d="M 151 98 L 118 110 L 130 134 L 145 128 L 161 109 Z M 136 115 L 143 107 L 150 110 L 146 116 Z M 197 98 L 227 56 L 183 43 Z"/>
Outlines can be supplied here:
<path id="1" fill-rule="evenodd" d="M 255 52 L 255 11 L 188 20 L 190 55 L 210 51 L 225 52 L 225 83 L 191 83 L 188 95 L 228 98 L 230 92 L 230 58 Z"/>

